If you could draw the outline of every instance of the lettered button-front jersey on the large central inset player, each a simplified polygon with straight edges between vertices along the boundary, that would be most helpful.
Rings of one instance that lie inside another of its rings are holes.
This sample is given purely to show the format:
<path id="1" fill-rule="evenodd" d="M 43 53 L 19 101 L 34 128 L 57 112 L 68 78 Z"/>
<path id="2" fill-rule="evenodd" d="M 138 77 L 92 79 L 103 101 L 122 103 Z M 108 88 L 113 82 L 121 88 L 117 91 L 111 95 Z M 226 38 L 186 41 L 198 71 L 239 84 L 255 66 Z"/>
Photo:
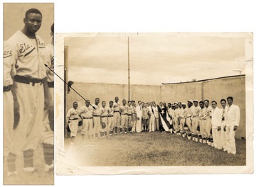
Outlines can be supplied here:
<path id="1" fill-rule="evenodd" d="M 9 38 L 8 43 L 11 45 L 11 60 L 17 75 L 33 79 L 46 77 L 44 63 L 48 55 L 46 45 L 38 35 L 36 39 L 30 39 L 19 30 Z"/>

